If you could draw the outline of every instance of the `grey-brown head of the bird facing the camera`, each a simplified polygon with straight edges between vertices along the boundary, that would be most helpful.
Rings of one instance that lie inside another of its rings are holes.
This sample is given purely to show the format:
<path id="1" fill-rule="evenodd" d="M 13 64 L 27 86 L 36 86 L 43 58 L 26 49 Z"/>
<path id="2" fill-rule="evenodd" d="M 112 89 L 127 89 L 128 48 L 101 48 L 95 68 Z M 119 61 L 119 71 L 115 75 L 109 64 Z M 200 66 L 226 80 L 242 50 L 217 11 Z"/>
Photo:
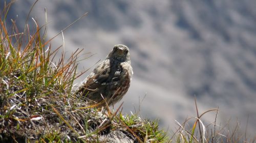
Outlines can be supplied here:
<path id="1" fill-rule="evenodd" d="M 129 48 L 122 44 L 115 45 L 107 58 L 116 59 L 120 62 L 130 62 Z"/>

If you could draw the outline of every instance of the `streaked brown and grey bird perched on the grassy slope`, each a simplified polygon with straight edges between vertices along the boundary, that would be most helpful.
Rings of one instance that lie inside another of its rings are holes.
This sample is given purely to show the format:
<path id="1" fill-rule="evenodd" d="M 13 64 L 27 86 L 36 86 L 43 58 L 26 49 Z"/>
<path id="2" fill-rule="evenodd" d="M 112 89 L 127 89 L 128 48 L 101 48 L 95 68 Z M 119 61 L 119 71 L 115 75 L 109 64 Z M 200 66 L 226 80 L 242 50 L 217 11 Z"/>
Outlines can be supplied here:
<path id="1" fill-rule="evenodd" d="M 128 91 L 132 75 L 130 50 L 125 45 L 117 44 L 82 81 L 76 93 L 98 107 L 114 106 Z"/>

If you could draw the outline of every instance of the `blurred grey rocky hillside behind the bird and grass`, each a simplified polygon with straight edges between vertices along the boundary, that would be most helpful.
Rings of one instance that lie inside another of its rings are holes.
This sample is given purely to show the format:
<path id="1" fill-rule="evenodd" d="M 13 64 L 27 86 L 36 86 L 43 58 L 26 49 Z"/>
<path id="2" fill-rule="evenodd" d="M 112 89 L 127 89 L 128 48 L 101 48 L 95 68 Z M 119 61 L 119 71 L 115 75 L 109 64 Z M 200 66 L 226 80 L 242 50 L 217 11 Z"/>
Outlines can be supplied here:
<path id="1" fill-rule="evenodd" d="M 32 4 L 16 1 L 7 19 L 16 19 L 22 28 Z M 45 0 L 35 5 L 28 23 L 33 17 L 44 24 L 46 8 L 51 38 L 89 12 L 64 33 L 66 54 L 77 48 L 94 54 L 80 62 L 80 71 L 103 60 L 115 44 L 129 46 L 134 76 L 123 112 L 140 111 L 145 118 L 160 118 L 163 128 L 175 129 L 175 119 L 196 115 L 196 96 L 201 112 L 220 107 L 220 124 L 231 118 L 245 127 L 249 115 L 248 130 L 255 133 L 255 7 L 252 0 Z M 62 44 L 60 36 L 53 46 Z M 214 122 L 214 117 L 208 114 L 205 120 Z"/>

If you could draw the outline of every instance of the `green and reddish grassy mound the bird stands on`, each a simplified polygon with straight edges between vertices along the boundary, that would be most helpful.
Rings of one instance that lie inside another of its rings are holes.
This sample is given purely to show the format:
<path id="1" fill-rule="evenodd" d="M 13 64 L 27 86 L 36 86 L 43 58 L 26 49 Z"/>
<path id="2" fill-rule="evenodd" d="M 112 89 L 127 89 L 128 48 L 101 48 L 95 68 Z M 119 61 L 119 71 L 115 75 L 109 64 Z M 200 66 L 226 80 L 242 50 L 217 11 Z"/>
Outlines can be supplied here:
<path id="1" fill-rule="evenodd" d="M 74 95 L 81 50 L 68 60 L 62 50 L 56 60 L 62 46 L 53 50 L 46 25 L 33 19 L 32 28 L 20 31 L 12 19 L 8 26 L 10 6 L 0 19 L 0 142 L 167 141 L 156 122 L 123 117 L 121 107 L 114 113 L 91 107 Z"/>

